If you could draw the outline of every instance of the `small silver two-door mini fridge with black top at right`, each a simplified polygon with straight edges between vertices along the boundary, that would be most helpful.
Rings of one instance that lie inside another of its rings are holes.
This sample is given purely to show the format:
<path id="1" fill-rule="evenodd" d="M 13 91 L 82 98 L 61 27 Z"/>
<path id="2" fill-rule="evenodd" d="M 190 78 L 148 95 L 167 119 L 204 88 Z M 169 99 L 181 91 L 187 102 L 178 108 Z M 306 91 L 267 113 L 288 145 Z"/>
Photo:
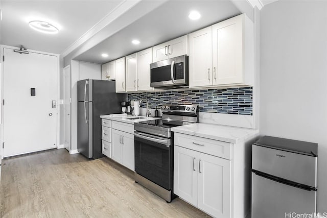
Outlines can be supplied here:
<path id="1" fill-rule="evenodd" d="M 315 213 L 318 144 L 264 136 L 252 145 L 252 218 Z"/>

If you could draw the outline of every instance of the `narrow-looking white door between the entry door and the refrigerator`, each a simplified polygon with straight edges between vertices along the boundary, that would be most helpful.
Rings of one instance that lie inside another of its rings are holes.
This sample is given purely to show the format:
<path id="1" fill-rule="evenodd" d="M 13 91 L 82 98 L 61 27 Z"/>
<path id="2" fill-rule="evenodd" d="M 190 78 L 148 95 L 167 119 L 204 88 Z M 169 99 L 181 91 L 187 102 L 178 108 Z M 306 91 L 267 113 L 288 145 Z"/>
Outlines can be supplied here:
<path id="1" fill-rule="evenodd" d="M 63 69 L 63 141 L 71 151 L 71 65 Z"/>

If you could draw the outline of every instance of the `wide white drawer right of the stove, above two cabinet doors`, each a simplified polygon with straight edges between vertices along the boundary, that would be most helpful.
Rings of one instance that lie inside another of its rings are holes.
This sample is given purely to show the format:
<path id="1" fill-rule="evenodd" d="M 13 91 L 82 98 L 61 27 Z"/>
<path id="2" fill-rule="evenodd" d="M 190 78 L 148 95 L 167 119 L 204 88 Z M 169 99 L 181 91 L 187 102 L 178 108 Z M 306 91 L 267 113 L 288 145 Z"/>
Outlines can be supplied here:
<path id="1" fill-rule="evenodd" d="M 224 141 L 217 141 L 193 135 L 175 133 L 174 144 L 186 149 L 192 149 L 194 151 L 222 157 L 228 160 L 231 159 L 230 143 Z"/>

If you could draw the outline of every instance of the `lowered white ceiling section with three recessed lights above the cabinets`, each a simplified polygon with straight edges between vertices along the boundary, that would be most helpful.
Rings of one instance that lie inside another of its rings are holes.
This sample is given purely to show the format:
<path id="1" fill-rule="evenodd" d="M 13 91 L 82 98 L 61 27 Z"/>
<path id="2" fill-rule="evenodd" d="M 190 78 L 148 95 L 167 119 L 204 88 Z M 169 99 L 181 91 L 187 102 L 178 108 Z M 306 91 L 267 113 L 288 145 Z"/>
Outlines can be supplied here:
<path id="1" fill-rule="evenodd" d="M 191 10 L 199 11 L 201 18 L 190 20 L 188 15 Z M 106 63 L 240 13 L 235 5 L 227 0 L 167 1 L 74 59 Z M 134 38 L 141 43 L 133 45 L 131 41 Z M 109 57 L 101 57 L 102 53 L 107 53 Z"/>

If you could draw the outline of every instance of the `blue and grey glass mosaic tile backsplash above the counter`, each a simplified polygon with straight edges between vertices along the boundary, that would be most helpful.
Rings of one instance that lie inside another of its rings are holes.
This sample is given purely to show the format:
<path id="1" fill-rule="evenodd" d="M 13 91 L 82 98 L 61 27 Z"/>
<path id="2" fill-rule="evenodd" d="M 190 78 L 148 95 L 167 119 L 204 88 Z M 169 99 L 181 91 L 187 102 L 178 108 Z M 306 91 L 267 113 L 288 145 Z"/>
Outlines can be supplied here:
<path id="1" fill-rule="evenodd" d="M 148 100 L 149 108 L 162 104 L 196 104 L 200 112 L 252 115 L 252 87 L 129 93 L 128 101 Z M 142 104 L 146 107 L 146 104 Z"/>

